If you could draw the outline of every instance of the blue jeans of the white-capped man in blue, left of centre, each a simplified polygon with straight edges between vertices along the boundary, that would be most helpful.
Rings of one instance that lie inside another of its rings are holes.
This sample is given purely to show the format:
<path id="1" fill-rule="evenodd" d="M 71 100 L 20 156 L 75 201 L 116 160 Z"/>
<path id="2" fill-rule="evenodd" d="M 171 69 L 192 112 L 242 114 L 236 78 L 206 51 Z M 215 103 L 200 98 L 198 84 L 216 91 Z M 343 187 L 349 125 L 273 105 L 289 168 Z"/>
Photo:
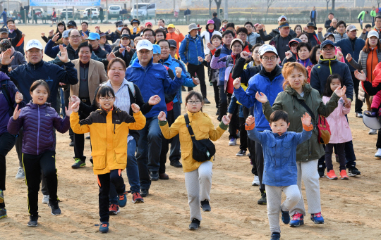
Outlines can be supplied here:
<path id="1" fill-rule="evenodd" d="M 138 160 L 140 189 L 150 189 L 150 172 L 158 172 L 162 151 L 162 130 L 157 116 L 147 118 L 145 127 L 139 131 Z"/>

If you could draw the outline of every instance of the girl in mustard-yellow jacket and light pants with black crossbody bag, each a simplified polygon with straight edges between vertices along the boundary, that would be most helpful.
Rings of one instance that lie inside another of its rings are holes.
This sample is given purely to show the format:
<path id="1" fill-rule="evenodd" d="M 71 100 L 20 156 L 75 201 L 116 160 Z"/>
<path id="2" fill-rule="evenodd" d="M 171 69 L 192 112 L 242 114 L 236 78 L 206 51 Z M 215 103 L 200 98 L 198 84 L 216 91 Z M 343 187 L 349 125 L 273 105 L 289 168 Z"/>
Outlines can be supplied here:
<path id="1" fill-rule="evenodd" d="M 206 113 L 202 113 L 202 96 L 196 91 L 189 91 L 186 96 L 186 108 L 188 118 L 195 134 L 196 140 L 211 139 L 217 141 L 227 129 L 230 119 L 224 115 L 222 122 L 216 130 L 212 120 Z M 180 115 L 175 122 L 168 126 L 166 115 L 164 112 L 159 113 L 159 125 L 162 130 L 163 136 L 166 139 L 179 134 L 181 145 L 181 158 L 183 159 L 183 171 L 185 172 L 186 190 L 188 191 L 188 203 L 191 208 L 191 225 L 189 229 L 195 230 L 200 226 L 201 211 L 210 211 L 210 189 L 212 188 L 212 162 L 211 160 L 205 162 L 198 162 L 193 159 L 193 143 L 191 134 L 189 134 L 188 127 L 183 115 Z M 202 201 L 200 201 L 202 200 Z"/>

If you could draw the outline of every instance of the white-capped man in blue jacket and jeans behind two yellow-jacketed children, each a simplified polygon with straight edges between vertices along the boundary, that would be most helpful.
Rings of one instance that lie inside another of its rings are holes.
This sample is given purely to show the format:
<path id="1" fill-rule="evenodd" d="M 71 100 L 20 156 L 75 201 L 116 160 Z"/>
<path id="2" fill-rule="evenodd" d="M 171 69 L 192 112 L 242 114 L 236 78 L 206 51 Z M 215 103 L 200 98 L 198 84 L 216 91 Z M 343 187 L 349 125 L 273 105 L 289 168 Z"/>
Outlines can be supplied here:
<path id="1" fill-rule="evenodd" d="M 145 115 L 146 124 L 143 130 L 139 131 L 138 160 L 141 196 L 147 196 L 151 181 L 159 179 L 160 151 L 162 149 L 162 131 L 159 127 L 157 115 L 161 111 L 167 113 L 164 94 L 176 94 L 180 89 L 183 80 L 181 79 L 181 68 L 176 68 L 174 80 L 168 75 L 167 69 L 158 63 L 152 63 L 152 43 L 146 39 L 138 42 L 136 59 L 126 70 L 126 80 L 136 84 L 142 91 L 144 101 L 148 101 L 151 96 L 159 95 L 163 99 L 153 106 L 150 113 Z"/>

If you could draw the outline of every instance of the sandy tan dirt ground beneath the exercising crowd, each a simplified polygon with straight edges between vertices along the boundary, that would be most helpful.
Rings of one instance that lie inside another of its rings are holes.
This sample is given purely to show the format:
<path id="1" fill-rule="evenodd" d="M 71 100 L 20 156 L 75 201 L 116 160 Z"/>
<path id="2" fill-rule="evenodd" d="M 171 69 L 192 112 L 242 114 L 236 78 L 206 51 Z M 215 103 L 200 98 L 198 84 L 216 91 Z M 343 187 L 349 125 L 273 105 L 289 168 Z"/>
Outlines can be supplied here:
<path id="1" fill-rule="evenodd" d="M 90 29 L 93 30 L 94 26 Z M 26 34 L 25 42 L 40 39 L 40 32 L 47 33 L 51 29 L 47 25 L 19 27 Z M 267 30 L 272 27 L 267 26 Z M 102 25 L 102 29 L 109 28 L 113 30 L 114 25 Z M 179 28 L 186 32 L 186 26 Z M 199 87 L 195 89 L 200 91 Z M 203 109 L 217 127 L 213 89 L 209 84 L 207 94 L 212 104 Z M 350 177 L 348 181 L 321 178 L 325 224 L 314 225 L 308 216 L 302 227 L 291 228 L 282 224 L 282 239 L 381 239 L 381 177 L 378 175 L 381 160 L 373 157 L 377 135 L 368 135 L 368 128 L 360 118 L 354 117 L 353 110 L 349 114 L 349 122 L 361 176 Z M 212 212 L 202 213 L 201 227 L 195 232 L 188 230 L 189 207 L 183 171 L 167 163 L 170 179 L 152 182 L 150 195 L 143 204 L 131 203 L 129 195 L 127 206 L 121 208 L 118 215 L 110 217 L 109 234 L 100 234 L 95 227 L 99 223 L 97 180 L 88 161 L 85 168 L 71 169 L 73 148 L 68 146 L 68 133 L 57 134 L 56 168 L 62 215 L 51 215 L 49 207 L 41 203 L 40 194 L 39 226 L 27 227 L 27 187 L 23 180 L 15 179 L 18 159 L 13 149 L 7 156 L 4 193 L 8 217 L 0 220 L 0 238 L 270 239 L 266 206 L 257 204 L 260 191 L 258 187 L 251 186 L 250 161 L 247 156 L 236 157 L 239 146 L 228 146 L 228 141 L 225 133 L 215 142 L 217 153 L 210 194 Z M 86 140 L 85 155 L 90 158 L 90 154 L 90 141 Z M 334 169 L 339 169 L 337 163 L 334 163 Z M 123 178 L 128 185 L 125 171 Z M 306 199 L 304 193 L 303 196 Z"/>

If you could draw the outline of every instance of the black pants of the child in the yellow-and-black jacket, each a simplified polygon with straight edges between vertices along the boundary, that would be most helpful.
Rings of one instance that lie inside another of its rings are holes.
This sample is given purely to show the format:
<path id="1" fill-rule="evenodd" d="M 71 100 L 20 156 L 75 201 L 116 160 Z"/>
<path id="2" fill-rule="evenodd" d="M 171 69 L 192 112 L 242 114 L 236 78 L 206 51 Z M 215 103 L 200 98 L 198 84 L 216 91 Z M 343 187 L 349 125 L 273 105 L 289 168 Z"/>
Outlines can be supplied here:
<path id="1" fill-rule="evenodd" d="M 99 186 L 99 220 L 101 222 L 109 222 L 109 192 L 111 182 L 114 184 L 118 195 L 122 195 L 126 191 L 121 171 L 121 169 L 115 169 L 109 173 L 97 175 Z"/>

